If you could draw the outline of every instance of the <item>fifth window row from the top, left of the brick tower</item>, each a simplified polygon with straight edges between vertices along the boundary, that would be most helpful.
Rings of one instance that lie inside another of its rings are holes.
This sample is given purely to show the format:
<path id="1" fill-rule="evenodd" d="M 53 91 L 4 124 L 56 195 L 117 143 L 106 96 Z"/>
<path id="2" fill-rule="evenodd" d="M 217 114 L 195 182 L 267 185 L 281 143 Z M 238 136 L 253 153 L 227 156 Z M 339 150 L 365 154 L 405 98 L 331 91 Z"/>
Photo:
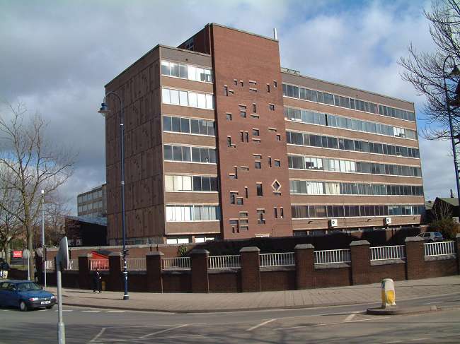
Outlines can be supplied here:
<path id="1" fill-rule="evenodd" d="M 219 191 L 217 177 L 166 175 L 164 183 L 166 191 Z"/>

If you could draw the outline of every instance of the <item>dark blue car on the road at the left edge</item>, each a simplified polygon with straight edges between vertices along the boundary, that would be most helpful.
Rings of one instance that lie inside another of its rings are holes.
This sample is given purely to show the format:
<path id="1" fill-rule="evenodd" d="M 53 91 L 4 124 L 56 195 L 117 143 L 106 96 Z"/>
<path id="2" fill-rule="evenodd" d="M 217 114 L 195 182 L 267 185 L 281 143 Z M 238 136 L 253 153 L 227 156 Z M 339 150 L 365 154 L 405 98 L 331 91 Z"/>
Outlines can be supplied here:
<path id="1" fill-rule="evenodd" d="M 50 309 L 56 297 L 30 280 L 0 281 L 0 307 L 18 307 L 22 312 L 45 307 Z"/>

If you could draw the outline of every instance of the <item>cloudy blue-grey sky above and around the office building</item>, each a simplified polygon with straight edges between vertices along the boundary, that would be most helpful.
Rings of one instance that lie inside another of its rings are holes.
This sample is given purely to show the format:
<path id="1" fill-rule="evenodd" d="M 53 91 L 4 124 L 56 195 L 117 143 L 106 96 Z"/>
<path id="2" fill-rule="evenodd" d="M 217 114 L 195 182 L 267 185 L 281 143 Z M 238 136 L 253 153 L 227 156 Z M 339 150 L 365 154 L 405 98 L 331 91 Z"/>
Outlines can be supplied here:
<path id="1" fill-rule="evenodd" d="M 277 28 L 282 66 L 414 102 L 422 129 L 425 99 L 398 60 L 410 43 L 435 49 L 424 8 L 430 1 L 0 0 L 0 101 L 39 112 L 53 143 L 78 153 L 60 190 L 76 213 L 76 195 L 105 182 L 104 85 L 158 43 L 175 47 L 207 23 L 270 37 Z M 449 141 L 420 138 L 420 154 L 426 200 L 449 196 Z"/>

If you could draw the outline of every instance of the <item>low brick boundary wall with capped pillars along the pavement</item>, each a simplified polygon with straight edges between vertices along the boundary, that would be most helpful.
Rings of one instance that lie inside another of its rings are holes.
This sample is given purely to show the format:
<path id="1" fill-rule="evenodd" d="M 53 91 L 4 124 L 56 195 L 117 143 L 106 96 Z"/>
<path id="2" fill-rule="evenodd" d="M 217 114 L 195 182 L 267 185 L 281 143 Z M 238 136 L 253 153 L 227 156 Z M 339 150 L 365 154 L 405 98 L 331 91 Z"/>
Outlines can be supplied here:
<path id="1" fill-rule="evenodd" d="M 209 252 L 197 249 L 191 252 L 188 271 L 161 269 L 161 252 L 146 255 L 146 271 L 130 271 L 128 280 L 142 292 L 259 292 L 261 290 L 301 290 L 378 283 L 382 278 L 413 280 L 460 273 L 460 235 L 456 236 L 456 255 L 430 257 L 424 254 L 424 242 L 408 237 L 405 242 L 406 259 L 371 261 L 369 243 L 355 241 L 350 244 L 350 263 L 314 264 L 314 246 L 297 245 L 294 250 L 295 266 L 261 268 L 258 247 L 245 247 L 240 251 L 241 268 L 209 269 Z M 79 271 L 64 271 L 63 285 L 91 289 L 90 256 L 79 256 Z M 121 257 L 109 257 L 109 271 L 103 271 L 107 290 L 122 290 Z M 47 274 L 47 283 L 55 285 L 56 274 Z"/>

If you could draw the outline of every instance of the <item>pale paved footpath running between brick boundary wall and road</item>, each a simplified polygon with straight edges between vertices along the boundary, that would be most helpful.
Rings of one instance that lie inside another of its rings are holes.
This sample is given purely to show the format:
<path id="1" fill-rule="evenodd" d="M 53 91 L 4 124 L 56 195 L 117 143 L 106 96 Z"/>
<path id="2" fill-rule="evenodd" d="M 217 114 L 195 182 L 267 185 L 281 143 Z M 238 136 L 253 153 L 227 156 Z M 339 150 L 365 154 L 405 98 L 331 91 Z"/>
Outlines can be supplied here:
<path id="1" fill-rule="evenodd" d="M 49 287 L 48 290 L 56 292 Z M 460 292 L 460 275 L 425 280 L 395 281 L 396 300 Z M 380 302 L 381 285 L 353 285 L 309 290 L 240 293 L 93 293 L 92 290 L 63 289 L 63 303 L 74 306 L 159 312 L 215 312 L 270 308 L 318 307 Z"/>

